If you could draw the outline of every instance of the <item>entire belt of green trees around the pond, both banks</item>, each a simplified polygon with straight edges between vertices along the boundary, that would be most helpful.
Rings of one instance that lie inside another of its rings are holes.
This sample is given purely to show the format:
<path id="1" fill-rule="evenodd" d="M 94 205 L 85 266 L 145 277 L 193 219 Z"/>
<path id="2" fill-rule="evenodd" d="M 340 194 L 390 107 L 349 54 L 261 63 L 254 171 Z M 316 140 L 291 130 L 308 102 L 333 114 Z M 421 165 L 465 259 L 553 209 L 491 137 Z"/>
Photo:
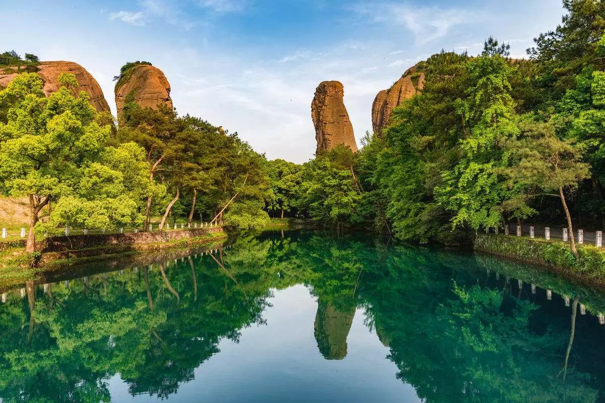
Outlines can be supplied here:
<path id="1" fill-rule="evenodd" d="M 421 243 L 459 243 L 511 220 L 600 227 L 605 4 L 563 4 L 527 60 L 492 37 L 476 56 L 434 54 L 416 66 L 422 92 L 358 153 L 336 147 L 302 165 L 269 161 L 237 133 L 168 107 L 126 100 L 117 126 L 76 94 L 73 75 L 45 97 L 24 72 L 0 91 L 0 192 L 30 200 L 28 250 L 36 232 L 146 229 L 151 217 L 160 229 L 175 217 L 233 229 L 300 217 Z M 36 63 L 0 55 L 0 66 Z M 126 63 L 118 83 L 140 63 Z"/>

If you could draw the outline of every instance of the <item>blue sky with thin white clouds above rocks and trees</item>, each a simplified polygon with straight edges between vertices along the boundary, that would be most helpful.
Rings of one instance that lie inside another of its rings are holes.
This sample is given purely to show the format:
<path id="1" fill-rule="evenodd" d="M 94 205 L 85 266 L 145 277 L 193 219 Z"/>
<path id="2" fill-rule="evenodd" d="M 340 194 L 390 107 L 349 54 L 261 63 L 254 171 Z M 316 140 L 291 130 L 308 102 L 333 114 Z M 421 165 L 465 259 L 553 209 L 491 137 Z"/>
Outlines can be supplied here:
<path id="1" fill-rule="evenodd" d="M 0 3 L 0 48 L 80 63 L 114 112 L 112 77 L 125 62 L 148 60 L 168 77 L 179 113 L 295 162 L 315 151 L 310 103 L 321 81 L 344 84 L 359 142 L 376 93 L 414 63 L 442 48 L 477 54 L 489 35 L 525 57 L 563 14 L 560 0 Z"/>

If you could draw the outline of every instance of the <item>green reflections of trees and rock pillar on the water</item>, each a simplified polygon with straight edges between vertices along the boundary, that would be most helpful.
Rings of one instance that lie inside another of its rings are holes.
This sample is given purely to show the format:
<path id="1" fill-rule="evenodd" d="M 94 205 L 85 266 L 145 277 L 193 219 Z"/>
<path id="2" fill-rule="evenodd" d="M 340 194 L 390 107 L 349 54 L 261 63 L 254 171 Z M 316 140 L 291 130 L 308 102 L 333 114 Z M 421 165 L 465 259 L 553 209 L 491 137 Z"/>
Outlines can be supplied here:
<path id="1" fill-rule="evenodd" d="M 590 357 L 600 340 L 581 337 L 575 309 L 570 335 L 567 313 L 503 292 L 504 279 L 495 286 L 484 270 L 473 256 L 276 233 L 240 237 L 214 258 L 99 274 L 48 294 L 32 286 L 0 308 L 0 397 L 108 401 L 106 380 L 119 373 L 132 394 L 165 398 L 220 340 L 263 323 L 270 289 L 303 283 L 318 301 L 325 358 L 345 357 L 362 306 L 397 377 L 429 403 L 597 401 L 603 370 L 589 363 L 602 361 Z"/>

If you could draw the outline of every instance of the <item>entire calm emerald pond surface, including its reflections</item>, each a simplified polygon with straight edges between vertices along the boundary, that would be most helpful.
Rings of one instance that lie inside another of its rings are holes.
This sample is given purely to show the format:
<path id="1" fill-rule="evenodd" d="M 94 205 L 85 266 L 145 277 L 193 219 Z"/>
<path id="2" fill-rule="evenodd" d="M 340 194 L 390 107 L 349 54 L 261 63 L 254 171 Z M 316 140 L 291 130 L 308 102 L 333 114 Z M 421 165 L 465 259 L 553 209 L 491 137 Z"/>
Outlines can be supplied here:
<path id="1" fill-rule="evenodd" d="M 2 288 L 0 401 L 605 401 L 605 299 L 530 267 L 303 232 L 136 259 Z"/>

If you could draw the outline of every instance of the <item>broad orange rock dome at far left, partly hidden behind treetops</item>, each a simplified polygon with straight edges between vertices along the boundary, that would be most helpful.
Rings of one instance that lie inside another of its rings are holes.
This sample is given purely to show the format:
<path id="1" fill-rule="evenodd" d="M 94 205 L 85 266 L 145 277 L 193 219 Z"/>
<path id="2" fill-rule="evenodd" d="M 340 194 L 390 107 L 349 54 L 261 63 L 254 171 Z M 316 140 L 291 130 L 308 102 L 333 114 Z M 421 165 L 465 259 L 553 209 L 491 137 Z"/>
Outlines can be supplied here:
<path id="1" fill-rule="evenodd" d="M 59 89 L 59 74 L 61 73 L 72 73 L 76 76 L 77 82 L 80 84 L 79 90 L 86 91 L 90 95 L 90 103 L 99 112 L 109 112 L 110 106 L 103 97 L 103 91 L 97 83 L 97 80 L 86 71 L 85 68 L 74 62 L 42 62 L 38 66 L 38 75 L 44 81 L 44 87 L 42 90 L 44 94 L 48 95 L 51 92 L 55 92 Z M 6 87 L 10 81 L 13 81 L 20 72 L 11 72 L 9 74 L 2 74 L 0 72 L 0 86 Z"/>

